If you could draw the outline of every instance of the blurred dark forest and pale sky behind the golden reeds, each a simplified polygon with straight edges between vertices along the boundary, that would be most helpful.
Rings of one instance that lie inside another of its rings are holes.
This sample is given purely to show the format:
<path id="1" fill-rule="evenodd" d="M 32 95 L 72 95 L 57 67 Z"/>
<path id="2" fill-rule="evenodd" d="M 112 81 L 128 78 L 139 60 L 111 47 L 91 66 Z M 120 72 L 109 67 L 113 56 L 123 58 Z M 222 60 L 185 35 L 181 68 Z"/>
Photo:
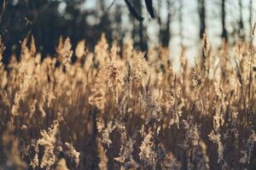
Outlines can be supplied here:
<path id="1" fill-rule="evenodd" d="M 237 38 L 247 40 L 255 21 L 253 0 L 157 0 L 153 1 L 155 20 L 147 14 L 143 0 L 130 2 L 143 21 L 130 14 L 125 0 L 1 0 L 4 56 L 19 53 L 20 41 L 28 33 L 45 56 L 55 53 L 61 36 L 70 37 L 74 46 L 85 39 L 87 48 L 93 50 L 104 32 L 110 44 L 122 46 L 125 37 L 131 37 L 143 51 L 170 48 L 174 61 L 183 44 L 193 59 L 200 53 L 205 31 L 212 45 L 219 47 L 223 40 L 232 45 Z"/>

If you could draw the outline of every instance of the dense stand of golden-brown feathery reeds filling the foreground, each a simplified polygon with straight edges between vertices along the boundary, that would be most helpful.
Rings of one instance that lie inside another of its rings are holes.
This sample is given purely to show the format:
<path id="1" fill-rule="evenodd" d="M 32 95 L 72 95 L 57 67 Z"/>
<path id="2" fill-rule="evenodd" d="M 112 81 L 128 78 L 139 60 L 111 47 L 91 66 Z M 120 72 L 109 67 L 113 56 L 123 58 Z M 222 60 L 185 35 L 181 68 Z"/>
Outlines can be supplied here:
<path id="1" fill-rule="evenodd" d="M 193 66 L 182 48 L 176 71 L 167 49 L 144 59 L 131 40 L 103 35 L 91 53 L 60 39 L 41 59 L 26 38 L 0 62 L 0 168 L 256 169 L 253 34 L 202 47 Z"/>

